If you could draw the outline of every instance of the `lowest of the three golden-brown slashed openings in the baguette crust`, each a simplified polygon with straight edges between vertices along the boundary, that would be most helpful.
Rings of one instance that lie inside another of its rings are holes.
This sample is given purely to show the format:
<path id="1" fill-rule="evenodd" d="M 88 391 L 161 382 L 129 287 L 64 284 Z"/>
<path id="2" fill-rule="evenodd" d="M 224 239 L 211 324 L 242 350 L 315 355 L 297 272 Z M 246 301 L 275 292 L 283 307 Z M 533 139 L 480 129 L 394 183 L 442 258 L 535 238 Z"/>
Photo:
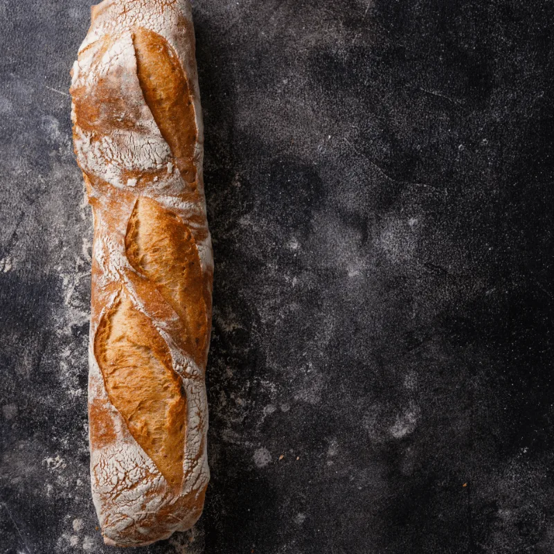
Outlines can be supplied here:
<path id="1" fill-rule="evenodd" d="M 171 488 L 183 479 L 186 397 L 166 343 L 123 295 L 102 317 L 94 353 L 111 404 Z"/>

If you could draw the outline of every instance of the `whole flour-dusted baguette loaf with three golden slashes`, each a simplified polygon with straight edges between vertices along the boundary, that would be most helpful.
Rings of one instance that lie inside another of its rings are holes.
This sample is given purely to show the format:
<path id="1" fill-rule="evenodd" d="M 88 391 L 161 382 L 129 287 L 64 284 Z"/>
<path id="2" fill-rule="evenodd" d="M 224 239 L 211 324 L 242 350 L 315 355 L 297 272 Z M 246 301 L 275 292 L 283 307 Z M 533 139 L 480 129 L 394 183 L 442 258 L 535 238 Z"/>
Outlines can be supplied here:
<path id="1" fill-rule="evenodd" d="M 187 530 L 209 479 L 213 257 L 188 0 L 105 0 L 73 65 L 94 220 L 91 487 L 105 542 Z"/>

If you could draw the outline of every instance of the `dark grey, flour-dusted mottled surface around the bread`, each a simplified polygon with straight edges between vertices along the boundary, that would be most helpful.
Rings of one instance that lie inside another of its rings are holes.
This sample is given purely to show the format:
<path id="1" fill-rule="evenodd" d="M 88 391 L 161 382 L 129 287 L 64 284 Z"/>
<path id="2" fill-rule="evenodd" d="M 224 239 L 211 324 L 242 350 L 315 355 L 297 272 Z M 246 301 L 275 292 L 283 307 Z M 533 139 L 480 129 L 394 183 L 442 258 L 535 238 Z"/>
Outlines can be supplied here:
<path id="1" fill-rule="evenodd" d="M 212 480 L 136 553 L 553 553 L 553 4 L 194 15 Z M 89 492 L 88 25 L 0 0 L 0 554 L 129 552 Z"/>

